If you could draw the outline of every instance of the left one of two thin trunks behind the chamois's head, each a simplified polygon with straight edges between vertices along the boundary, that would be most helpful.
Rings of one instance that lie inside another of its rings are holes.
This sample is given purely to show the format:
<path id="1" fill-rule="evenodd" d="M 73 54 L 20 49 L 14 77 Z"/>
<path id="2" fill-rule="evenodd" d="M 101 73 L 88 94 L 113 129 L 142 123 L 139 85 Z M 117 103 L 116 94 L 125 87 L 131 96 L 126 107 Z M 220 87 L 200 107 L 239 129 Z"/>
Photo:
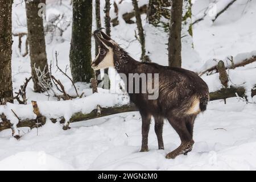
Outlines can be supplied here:
<path id="1" fill-rule="evenodd" d="M 96 27 L 101 28 L 101 5 L 100 0 L 95 0 L 95 13 L 96 13 Z M 95 57 L 98 55 L 98 43 L 95 42 Z M 97 70 L 95 71 L 95 77 L 97 79 L 97 84 L 100 83 L 100 80 L 98 80 L 98 77 L 100 78 L 101 71 Z"/>

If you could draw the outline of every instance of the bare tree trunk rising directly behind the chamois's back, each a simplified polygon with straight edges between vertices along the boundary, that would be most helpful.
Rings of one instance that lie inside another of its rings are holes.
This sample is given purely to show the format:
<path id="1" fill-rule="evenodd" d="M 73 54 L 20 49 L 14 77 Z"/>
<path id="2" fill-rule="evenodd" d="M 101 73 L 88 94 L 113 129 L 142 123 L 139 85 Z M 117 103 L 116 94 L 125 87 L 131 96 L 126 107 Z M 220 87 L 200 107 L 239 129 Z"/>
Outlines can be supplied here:
<path id="1" fill-rule="evenodd" d="M 183 1 L 172 1 L 170 34 L 168 39 L 168 62 L 170 67 L 181 67 L 182 9 Z"/>

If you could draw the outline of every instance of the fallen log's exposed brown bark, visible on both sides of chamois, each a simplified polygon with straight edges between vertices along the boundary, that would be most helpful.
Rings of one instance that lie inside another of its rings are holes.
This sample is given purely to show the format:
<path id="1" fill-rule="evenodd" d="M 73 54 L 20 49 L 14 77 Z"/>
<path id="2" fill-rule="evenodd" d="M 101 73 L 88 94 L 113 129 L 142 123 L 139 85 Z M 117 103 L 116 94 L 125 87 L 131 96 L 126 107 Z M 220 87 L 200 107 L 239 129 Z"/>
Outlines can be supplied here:
<path id="1" fill-rule="evenodd" d="M 255 85 L 256 88 L 256 85 Z M 222 88 L 220 90 L 217 90 L 215 92 L 210 93 L 210 101 L 213 100 L 220 100 L 230 97 L 246 97 L 246 89 L 242 86 L 236 87 L 236 86 L 230 86 L 229 88 Z M 251 97 L 256 95 L 256 89 L 251 89 Z M 22 105 L 21 105 L 22 106 Z M 35 127 L 43 126 L 46 123 L 47 118 L 44 117 L 42 114 L 40 114 L 38 105 L 36 102 L 32 102 L 32 106 L 34 109 L 34 113 L 37 115 L 36 119 L 20 119 L 16 127 L 30 127 L 30 129 L 33 129 Z M 113 107 L 99 107 L 97 106 L 96 109 L 92 110 L 90 113 L 75 113 L 72 115 L 72 117 L 69 119 L 68 123 L 73 122 L 79 122 L 79 121 L 86 121 L 88 119 L 94 119 L 94 118 L 100 118 L 105 117 L 112 114 L 118 114 L 118 113 L 125 113 L 130 111 L 138 111 L 137 107 L 135 105 L 122 105 L 122 106 L 113 106 Z M 12 129 L 13 125 L 11 124 L 11 121 L 4 117 L 4 113 L 0 113 L 2 115 L 0 120 L 0 131 L 5 129 Z M 62 124 L 67 123 L 65 121 L 64 117 L 60 118 L 51 118 L 50 119 L 53 123 L 60 122 Z M 67 130 L 69 128 L 68 125 L 64 125 L 63 129 Z"/>

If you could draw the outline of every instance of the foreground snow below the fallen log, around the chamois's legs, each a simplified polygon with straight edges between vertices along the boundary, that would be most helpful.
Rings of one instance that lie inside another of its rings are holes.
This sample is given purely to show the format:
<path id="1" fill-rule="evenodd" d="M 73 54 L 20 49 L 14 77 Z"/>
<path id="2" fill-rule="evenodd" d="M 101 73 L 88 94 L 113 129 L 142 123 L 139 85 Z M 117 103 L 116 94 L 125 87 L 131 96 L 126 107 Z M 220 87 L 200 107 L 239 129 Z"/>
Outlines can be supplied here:
<path id="1" fill-rule="evenodd" d="M 19 141 L 10 137 L 10 131 L 2 131 L 0 161 L 18 153 L 11 164 L 18 165 L 16 159 L 26 158 L 29 168 L 30 160 L 36 161 L 43 151 L 77 170 L 253 170 L 256 169 L 255 109 L 255 105 L 237 98 L 227 99 L 226 105 L 224 101 L 210 102 L 208 110 L 196 119 L 192 152 L 174 160 L 165 158 L 180 144 L 170 124 L 164 122 L 165 150 L 157 149 L 152 121 L 148 138 L 150 151 L 139 152 L 141 117 L 138 112 L 131 112 L 71 123 L 68 131 L 63 131 L 59 123 L 47 122 L 38 129 L 38 136 L 36 129 L 27 133 L 23 128 Z M 34 155 L 31 158 L 30 155 L 19 156 L 20 152 L 34 152 Z M 51 160 L 49 158 L 49 164 L 54 163 L 51 169 L 55 169 L 60 162 Z M 47 163 L 45 168 L 50 166 Z M 42 169 L 42 166 L 35 164 L 34 169 Z"/>

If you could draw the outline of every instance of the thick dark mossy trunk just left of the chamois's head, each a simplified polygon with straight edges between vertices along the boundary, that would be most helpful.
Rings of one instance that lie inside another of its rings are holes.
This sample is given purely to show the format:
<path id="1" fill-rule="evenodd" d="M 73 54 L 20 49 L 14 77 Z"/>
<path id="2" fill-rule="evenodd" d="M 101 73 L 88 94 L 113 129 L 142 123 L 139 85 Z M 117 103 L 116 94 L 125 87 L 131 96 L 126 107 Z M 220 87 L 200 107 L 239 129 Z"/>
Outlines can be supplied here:
<path id="1" fill-rule="evenodd" d="M 90 82 L 92 64 L 92 0 L 73 0 L 73 24 L 69 61 L 74 82 Z"/>

